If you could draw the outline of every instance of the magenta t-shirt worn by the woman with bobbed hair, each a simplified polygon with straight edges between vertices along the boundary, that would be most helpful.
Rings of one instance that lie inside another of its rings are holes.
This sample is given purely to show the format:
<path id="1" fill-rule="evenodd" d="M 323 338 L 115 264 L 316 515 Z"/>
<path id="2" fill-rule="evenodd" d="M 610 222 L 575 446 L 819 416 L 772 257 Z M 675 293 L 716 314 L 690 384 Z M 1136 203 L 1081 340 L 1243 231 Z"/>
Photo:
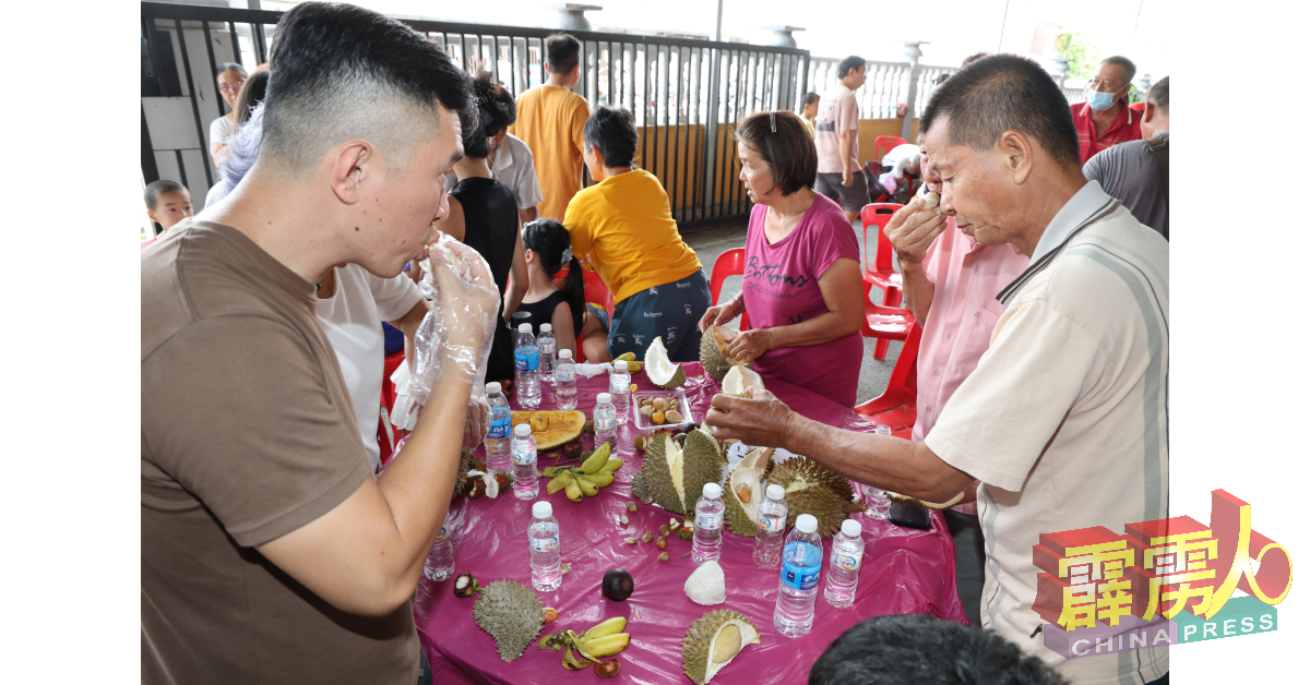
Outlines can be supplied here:
<path id="1" fill-rule="evenodd" d="M 790 326 L 827 313 L 819 278 L 842 257 L 859 261 L 855 232 L 831 199 L 816 195 L 791 234 L 773 245 L 764 234 L 768 211 L 764 204 L 751 210 L 745 236 L 741 292 L 755 329 Z M 812 347 L 769 350 L 755 369 L 765 377 L 765 386 L 774 377 L 854 406 L 863 352 L 859 333 L 853 333 Z"/>

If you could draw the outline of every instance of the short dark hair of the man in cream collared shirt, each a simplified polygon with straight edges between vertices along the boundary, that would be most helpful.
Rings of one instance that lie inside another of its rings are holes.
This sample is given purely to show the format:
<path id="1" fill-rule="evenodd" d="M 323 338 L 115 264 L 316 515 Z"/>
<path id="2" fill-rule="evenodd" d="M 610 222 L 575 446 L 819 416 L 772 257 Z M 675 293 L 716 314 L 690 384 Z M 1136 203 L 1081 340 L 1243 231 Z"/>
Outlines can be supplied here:
<path id="1" fill-rule="evenodd" d="M 951 122 L 948 145 L 988 152 L 1001 134 L 1015 130 L 1031 136 L 1057 162 L 1082 160 L 1069 101 L 1051 75 L 1028 58 L 988 55 L 951 75 L 933 90 L 920 131 L 926 134 L 943 117 Z"/>

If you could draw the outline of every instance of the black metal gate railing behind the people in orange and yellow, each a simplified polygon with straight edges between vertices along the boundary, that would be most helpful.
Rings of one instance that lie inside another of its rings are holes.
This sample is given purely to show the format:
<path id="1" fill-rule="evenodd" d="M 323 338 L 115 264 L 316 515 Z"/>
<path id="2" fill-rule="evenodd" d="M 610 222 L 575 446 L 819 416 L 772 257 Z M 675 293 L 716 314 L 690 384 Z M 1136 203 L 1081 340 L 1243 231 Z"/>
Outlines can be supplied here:
<path id="1" fill-rule="evenodd" d="M 241 62 L 246 68 L 266 62 L 280 14 L 141 3 L 141 173 L 147 182 L 174 178 L 189 186 L 198 206 L 203 204 L 216 178 L 208 155 L 208 124 L 225 113 L 215 71 L 224 62 Z M 515 97 L 541 84 L 542 43 L 558 33 L 400 21 L 424 33 L 462 68 L 493 71 Z M 751 200 L 736 179 L 732 130 L 748 113 L 799 107 L 808 88 L 808 51 L 622 33 L 567 33 L 583 45 L 575 92 L 593 109 L 613 105 L 633 111 L 641 136 L 637 162 L 664 183 L 680 227 L 744 220 Z"/>

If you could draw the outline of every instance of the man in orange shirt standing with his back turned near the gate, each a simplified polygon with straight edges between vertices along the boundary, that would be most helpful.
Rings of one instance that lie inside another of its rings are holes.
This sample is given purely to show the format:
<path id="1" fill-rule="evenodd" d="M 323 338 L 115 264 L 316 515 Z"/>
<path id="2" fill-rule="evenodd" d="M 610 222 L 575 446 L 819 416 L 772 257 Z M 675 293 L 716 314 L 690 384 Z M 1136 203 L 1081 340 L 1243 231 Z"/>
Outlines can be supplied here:
<path id="1" fill-rule="evenodd" d="M 519 119 L 510 132 L 532 148 L 542 196 L 537 213 L 563 219 L 569 200 L 582 190 L 582 128 L 591 109 L 572 92 L 582 69 L 578 39 L 555 34 L 545 48 L 546 83 L 519 96 Z"/>

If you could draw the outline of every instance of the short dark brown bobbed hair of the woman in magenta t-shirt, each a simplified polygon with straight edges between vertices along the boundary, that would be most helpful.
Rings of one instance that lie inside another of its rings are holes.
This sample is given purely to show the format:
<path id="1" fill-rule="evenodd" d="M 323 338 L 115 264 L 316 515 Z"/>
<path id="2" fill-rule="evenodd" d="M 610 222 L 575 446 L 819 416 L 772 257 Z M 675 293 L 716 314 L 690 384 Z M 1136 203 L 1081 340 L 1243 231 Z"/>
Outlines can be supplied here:
<path id="1" fill-rule="evenodd" d="M 736 141 L 764 160 L 783 195 L 814 187 L 819 153 L 814 138 L 794 111 L 761 111 L 747 117 L 738 124 Z"/>

